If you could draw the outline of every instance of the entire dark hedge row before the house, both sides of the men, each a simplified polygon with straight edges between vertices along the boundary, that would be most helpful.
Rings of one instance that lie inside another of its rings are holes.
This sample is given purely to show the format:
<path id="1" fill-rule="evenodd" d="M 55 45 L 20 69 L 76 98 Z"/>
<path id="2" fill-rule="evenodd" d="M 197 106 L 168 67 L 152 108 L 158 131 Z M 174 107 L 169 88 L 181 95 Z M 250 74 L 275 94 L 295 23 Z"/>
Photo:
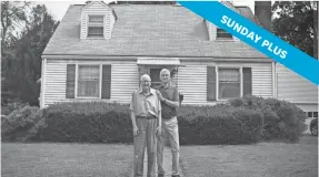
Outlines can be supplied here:
<path id="1" fill-rule="evenodd" d="M 27 110 L 32 108 L 21 111 Z M 62 143 L 130 144 L 133 139 L 129 106 L 123 104 L 60 103 L 43 111 L 30 111 L 27 119 L 33 121 L 28 125 L 16 123 L 26 122 L 23 118 L 12 121 L 14 114 L 2 118 L 2 139 L 3 135 L 7 140 Z M 181 145 L 250 144 L 273 138 L 298 140 L 305 131 L 305 119 L 303 112 L 291 103 L 255 96 L 215 106 L 183 105 L 178 111 Z M 7 128 L 3 131 L 3 127 Z"/>

